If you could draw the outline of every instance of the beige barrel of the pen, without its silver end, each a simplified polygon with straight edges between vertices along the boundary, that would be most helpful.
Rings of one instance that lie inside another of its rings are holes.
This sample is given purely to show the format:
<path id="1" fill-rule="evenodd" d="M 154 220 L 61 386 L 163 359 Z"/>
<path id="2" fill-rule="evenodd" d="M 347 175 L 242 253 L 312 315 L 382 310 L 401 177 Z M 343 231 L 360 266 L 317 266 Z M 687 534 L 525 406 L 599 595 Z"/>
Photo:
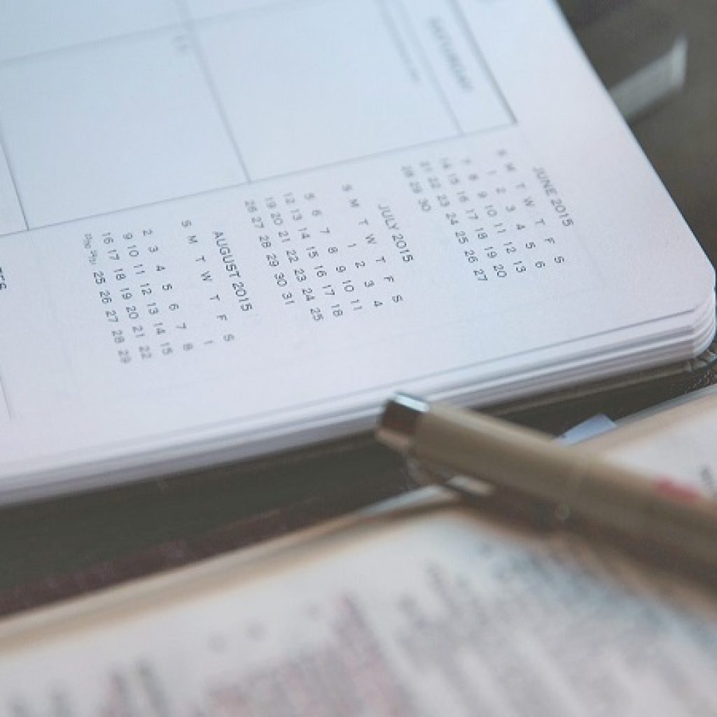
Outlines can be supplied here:
<path id="1" fill-rule="evenodd" d="M 717 567 L 716 501 L 531 429 L 434 404 L 417 422 L 412 455 L 546 501 L 566 523 L 587 519 L 655 557 L 680 554 Z"/>

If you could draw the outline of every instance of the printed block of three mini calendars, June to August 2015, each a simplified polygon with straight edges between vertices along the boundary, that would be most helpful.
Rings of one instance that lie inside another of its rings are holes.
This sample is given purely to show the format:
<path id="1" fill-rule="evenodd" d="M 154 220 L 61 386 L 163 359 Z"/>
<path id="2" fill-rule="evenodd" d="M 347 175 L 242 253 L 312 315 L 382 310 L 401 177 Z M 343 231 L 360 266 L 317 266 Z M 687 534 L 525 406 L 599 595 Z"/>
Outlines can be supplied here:
<path id="1" fill-rule="evenodd" d="M 270 341 L 262 318 L 317 341 L 392 331 L 394 316 L 425 325 L 428 311 L 453 310 L 450 291 L 431 291 L 437 280 L 460 285 L 479 314 L 575 290 L 569 275 L 585 259 L 569 209 L 546 169 L 501 135 L 477 151 L 454 143 L 381 161 L 391 172 L 379 187 L 379 162 L 367 161 L 271 193 L 232 190 L 228 214 L 167 211 L 84 232 L 103 341 L 120 364 L 148 366 L 241 351 L 242 336 Z"/>

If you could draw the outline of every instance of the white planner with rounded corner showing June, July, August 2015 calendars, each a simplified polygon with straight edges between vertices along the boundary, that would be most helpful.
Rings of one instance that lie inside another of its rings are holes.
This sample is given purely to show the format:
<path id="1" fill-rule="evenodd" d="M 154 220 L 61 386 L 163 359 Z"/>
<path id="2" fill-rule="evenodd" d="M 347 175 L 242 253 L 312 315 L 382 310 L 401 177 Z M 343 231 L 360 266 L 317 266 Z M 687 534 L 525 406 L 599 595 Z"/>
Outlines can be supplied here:
<path id="1" fill-rule="evenodd" d="M 713 336 L 713 271 L 548 0 L 4 3 L 0 136 L 0 501 Z"/>

